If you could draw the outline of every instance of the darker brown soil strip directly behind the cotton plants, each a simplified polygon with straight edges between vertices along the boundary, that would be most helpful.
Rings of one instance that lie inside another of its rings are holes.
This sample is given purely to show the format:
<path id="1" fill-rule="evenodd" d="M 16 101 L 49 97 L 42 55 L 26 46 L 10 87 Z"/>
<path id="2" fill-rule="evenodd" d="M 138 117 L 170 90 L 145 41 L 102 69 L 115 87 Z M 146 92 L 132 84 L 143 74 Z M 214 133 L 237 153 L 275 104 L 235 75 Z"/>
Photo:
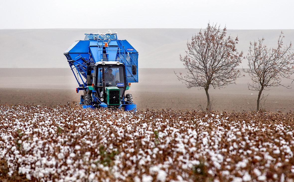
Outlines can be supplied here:
<path id="1" fill-rule="evenodd" d="M 0 89 L 0 103 L 15 105 L 19 103 L 34 103 L 55 106 L 59 103 L 79 102 L 80 94 L 73 90 L 60 89 Z M 205 94 L 174 93 L 174 92 L 130 92 L 138 108 L 192 110 L 206 106 Z M 231 94 L 213 95 L 213 110 L 217 111 L 250 111 L 255 110 L 255 96 L 240 96 Z M 283 96 L 269 97 L 265 104 L 268 111 L 294 111 L 292 100 Z"/>

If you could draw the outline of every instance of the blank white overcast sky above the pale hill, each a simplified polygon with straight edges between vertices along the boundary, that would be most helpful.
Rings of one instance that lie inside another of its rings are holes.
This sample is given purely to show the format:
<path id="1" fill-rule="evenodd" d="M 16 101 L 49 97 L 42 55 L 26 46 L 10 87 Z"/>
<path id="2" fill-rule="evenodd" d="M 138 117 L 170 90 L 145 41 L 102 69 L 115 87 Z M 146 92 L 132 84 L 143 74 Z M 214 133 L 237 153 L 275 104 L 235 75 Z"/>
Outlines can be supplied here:
<path id="1" fill-rule="evenodd" d="M 0 0 L 0 29 L 294 29 L 292 0 Z"/>

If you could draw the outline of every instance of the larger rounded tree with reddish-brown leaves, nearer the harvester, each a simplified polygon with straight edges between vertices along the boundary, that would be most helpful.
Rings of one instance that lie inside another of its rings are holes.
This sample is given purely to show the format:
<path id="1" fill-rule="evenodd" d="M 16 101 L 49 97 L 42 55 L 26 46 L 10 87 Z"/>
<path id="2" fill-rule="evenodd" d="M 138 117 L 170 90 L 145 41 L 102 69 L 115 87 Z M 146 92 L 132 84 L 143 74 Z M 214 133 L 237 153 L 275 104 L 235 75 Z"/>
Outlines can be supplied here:
<path id="1" fill-rule="evenodd" d="M 197 35 L 193 35 L 191 42 L 187 42 L 186 56 L 180 55 L 187 73 L 176 74 L 178 80 L 186 84 L 187 88 L 199 87 L 204 89 L 207 96 L 206 109 L 210 108 L 208 89 L 223 88 L 235 83 L 240 77 L 240 71 L 235 70 L 242 61 L 243 52 L 238 53 L 235 39 L 226 37 L 227 29 L 220 30 L 220 26 L 210 25 Z"/>

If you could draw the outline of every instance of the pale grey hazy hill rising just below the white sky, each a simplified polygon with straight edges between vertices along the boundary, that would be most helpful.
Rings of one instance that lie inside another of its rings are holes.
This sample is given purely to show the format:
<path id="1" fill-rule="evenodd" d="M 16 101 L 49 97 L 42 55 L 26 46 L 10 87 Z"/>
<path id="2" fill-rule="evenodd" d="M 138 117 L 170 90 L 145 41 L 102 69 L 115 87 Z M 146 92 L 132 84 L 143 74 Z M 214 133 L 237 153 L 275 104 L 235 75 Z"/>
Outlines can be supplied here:
<path id="1" fill-rule="evenodd" d="M 111 29 L 119 39 L 127 39 L 139 51 L 140 68 L 182 68 L 179 54 L 199 29 Z M 67 68 L 63 52 L 84 33 L 107 29 L 2 29 L 0 68 Z M 247 54 L 249 42 L 261 37 L 271 47 L 281 30 L 228 30 L 239 37 L 238 50 Z M 294 41 L 294 30 L 283 30 L 284 43 Z M 247 67 L 246 61 L 240 67 Z"/>

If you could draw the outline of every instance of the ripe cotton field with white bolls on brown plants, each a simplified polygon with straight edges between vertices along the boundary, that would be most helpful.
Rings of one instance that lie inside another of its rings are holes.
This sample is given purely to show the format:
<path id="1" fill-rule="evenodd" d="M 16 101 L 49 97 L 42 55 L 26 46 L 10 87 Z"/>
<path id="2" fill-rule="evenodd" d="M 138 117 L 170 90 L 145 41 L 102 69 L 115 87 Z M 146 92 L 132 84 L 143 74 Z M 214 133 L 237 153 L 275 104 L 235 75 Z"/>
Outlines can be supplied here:
<path id="1" fill-rule="evenodd" d="M 294 181 L 294 113 L 0 105 L 0 180 Z"/>

